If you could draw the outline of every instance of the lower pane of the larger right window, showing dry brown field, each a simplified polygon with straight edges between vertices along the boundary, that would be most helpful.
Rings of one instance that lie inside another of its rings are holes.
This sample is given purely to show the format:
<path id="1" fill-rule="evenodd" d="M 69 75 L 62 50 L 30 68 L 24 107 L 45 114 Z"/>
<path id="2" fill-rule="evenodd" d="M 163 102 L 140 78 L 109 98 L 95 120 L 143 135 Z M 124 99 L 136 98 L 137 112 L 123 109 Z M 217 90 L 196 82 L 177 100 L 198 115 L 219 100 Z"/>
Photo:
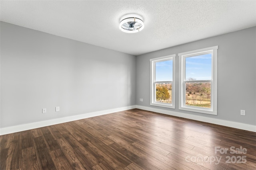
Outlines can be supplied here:
<path id="1" fill-rule="evenodd" d="M 211 83 L 186 82 L 187 106 L 211 108 Z"/>

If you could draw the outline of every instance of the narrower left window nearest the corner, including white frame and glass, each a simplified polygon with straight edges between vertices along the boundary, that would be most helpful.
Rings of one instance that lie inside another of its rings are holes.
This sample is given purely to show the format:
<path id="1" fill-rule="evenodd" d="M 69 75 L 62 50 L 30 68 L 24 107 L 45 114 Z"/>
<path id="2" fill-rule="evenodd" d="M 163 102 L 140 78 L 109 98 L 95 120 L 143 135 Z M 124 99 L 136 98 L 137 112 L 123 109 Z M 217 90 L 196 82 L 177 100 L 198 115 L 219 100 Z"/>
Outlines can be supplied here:
<path id="1" fill-rule="evenodd" d="M 175 108 L 175 55 L 150 59 L 150 105 Z"/>

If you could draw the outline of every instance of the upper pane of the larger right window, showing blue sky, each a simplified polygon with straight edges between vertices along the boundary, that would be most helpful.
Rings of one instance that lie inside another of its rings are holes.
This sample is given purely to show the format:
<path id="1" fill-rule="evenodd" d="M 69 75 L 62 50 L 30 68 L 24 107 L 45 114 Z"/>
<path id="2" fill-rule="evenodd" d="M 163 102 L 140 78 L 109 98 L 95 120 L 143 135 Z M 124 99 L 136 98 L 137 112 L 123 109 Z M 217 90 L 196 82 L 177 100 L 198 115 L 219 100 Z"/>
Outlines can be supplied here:
<path id="1" fill-rule="evenodd" d="M 212 79 L 212 54 L 186 57 L 185 80 L 211 80 Z"/>

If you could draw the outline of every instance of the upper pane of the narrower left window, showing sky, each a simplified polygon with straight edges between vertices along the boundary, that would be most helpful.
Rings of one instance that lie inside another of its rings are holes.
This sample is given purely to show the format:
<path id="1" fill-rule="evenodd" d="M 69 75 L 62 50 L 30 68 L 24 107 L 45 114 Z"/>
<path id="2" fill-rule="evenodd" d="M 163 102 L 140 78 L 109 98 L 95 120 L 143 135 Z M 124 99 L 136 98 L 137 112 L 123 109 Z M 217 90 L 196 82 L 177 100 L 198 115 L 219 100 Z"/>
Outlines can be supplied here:
<path id="1" fill-rule="evenodd" d="M 172 60 L 156 62 L 156 82 L 172 81 Z"/>

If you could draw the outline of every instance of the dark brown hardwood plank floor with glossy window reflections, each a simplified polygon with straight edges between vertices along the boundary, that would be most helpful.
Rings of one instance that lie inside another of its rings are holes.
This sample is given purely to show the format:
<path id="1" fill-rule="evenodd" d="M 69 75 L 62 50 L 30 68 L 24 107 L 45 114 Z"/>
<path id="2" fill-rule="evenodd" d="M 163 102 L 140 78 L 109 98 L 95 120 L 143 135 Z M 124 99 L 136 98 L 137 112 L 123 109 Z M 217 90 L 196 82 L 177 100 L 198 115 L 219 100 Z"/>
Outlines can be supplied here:
<path id="1" fill-rule="evenodd" d="M 256 133 L 140 109 L 0 138 L 1 170 L 256 169 Z"/>

